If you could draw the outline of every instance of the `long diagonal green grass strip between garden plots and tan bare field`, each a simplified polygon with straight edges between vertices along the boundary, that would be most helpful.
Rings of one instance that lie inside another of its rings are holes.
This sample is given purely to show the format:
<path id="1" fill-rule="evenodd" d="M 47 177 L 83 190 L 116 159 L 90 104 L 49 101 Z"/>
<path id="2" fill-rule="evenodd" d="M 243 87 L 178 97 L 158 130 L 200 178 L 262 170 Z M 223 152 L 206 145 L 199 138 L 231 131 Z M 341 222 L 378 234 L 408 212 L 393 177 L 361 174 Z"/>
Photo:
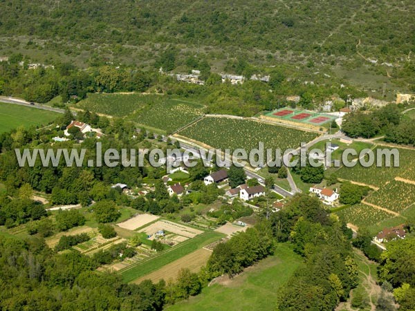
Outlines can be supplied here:
<path id="1" fill-rule="evenodd" d="M 132 265 L 126 270 L 121 270 L 120 274 L 122 276 L 122 280 L 124 282 L 134 281 L 135 279 L 156 271 L 160 269 L 160 267 L 167 265 L 167 263 L 171 263 L 172 261 L 190 254 L 196 249 L 217 241 L 224 236 L 224 234 L 220 234 L 219 232 L 204 232 L 203 234 L 187 240 L 176 247 L 172 247 L 156 254 L 154 257 L 150 257 L 146 261 L 141 261 L 138 265 Z"/>

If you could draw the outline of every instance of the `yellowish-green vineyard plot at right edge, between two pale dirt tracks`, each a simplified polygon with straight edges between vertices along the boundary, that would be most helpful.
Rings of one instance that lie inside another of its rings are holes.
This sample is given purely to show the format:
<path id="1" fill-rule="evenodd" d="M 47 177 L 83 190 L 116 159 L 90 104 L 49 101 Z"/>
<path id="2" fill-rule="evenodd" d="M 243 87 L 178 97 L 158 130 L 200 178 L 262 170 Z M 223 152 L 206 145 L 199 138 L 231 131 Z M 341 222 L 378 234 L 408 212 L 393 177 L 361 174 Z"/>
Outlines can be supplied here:
<path id="1" fill-rule="evenodd" d="M 393 180 L 365 201 L 400 213 L 415 203 L 415 185 Z"/>

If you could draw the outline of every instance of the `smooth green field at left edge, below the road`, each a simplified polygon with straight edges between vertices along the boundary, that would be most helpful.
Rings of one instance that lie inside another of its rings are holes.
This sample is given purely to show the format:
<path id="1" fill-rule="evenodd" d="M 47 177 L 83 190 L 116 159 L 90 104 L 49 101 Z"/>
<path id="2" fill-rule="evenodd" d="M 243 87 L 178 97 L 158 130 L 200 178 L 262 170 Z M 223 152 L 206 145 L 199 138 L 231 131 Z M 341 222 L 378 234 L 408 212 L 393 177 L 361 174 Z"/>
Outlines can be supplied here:
<path id="1" fill-rule="evenodd" d="M 0 133 L 19 126 L 46 125 L 57 118 L 59 113 L 42 109 L 0 102 Z"/>

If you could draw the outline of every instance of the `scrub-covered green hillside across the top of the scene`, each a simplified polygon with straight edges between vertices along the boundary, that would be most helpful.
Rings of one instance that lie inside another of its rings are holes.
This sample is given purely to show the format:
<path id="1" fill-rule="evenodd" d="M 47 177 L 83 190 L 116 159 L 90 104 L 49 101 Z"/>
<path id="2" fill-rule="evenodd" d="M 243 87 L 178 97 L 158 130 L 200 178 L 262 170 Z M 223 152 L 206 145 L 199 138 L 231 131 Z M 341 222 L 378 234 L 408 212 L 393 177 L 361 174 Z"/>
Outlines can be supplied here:
<path id="1" fill-rule="evenodd" d="M 214 70 L 245 74 L 282 63 L 328 65 L 354 82 L 374 75 L 409 88 L 414 10 L 409 0 L 9 0 L 1 2 L 0 55 L 153 67 L 154 55 L 172 48 L 176 68 L 196 54 Z"/>

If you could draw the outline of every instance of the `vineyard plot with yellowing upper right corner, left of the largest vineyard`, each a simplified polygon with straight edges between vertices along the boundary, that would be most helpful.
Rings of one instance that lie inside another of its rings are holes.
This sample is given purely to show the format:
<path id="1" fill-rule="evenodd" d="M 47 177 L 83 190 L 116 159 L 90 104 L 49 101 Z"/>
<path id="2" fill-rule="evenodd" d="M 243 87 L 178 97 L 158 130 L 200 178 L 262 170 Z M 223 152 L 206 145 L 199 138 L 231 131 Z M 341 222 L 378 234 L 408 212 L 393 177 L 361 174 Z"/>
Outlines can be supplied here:
<path id="1" fill-rule="evenodd" d="M 205 106 L 201 104 L 163 97 L 133 113 L 129 119 L 139 124 L 162 129 L 168 133 L 201 117 L 204 111 Z"/>

